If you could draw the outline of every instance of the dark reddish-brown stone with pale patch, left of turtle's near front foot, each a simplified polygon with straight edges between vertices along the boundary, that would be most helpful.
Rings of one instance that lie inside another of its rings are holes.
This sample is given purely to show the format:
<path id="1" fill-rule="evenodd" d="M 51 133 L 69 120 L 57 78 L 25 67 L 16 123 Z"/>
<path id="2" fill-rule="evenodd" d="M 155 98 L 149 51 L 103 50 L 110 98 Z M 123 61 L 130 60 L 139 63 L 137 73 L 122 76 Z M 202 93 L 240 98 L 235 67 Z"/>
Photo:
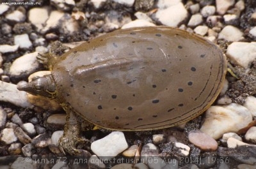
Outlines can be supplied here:
<path id="1" fill-rule="evenodd" d="M 51 137 L 48 134 L 41 134 L 33 138 L 32 145 L 39 148 L 47 147 L 52 143 Z"/>

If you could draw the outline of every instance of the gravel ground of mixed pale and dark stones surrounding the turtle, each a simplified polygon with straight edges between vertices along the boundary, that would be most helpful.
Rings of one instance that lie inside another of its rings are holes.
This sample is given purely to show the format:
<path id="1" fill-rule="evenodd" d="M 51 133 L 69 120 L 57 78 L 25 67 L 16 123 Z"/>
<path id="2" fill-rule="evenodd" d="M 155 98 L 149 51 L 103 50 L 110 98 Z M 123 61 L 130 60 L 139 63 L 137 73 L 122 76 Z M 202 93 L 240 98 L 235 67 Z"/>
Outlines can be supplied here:
<path id="1" fill-rule="evenodd" d="M 256 168 L 254 0 L 0 2 L 0 168 Z M 84 131 L 92 146 L 79 145 L 84 156 L 64 156 L 65 112 L 16 84 L 49 73 L 49 52 L 58 57 L 81 41 L 141 26 L 179 27 L 218 44 L 230 70 L 220 96 L 174 128 Z"/>

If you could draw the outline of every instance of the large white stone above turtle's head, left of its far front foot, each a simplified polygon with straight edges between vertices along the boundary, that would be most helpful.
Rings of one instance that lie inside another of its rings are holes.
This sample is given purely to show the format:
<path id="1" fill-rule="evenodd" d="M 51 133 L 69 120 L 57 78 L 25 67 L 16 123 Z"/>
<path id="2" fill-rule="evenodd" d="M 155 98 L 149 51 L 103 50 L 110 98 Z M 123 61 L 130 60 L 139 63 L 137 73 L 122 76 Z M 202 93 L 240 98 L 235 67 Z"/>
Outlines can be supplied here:
<path id="1" fill-rule="evenodd" d="M 13 61 L 12 66 L 10 66 L 10 74 L 21 75 L 21 74 L 31 74 L 35 71 L 38 66 L 39 62 L 36 59 L 38 52 L 33 52 L 29 54 L 22 55 Z"/>

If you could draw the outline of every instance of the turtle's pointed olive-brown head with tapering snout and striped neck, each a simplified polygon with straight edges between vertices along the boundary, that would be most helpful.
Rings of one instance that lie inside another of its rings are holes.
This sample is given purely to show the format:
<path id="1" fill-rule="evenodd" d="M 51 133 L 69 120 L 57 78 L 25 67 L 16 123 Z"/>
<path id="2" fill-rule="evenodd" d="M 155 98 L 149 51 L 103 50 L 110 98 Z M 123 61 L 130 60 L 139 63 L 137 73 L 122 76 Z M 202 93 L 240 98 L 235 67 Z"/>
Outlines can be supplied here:
<path id="1" fill-rule="evenodd" d="M 44 96 L 45 98 L 56 98 L 56 85 L 52 79 L 52 75 L 44 75 L 44 77 L 34 77 L 31 82 L 18 84 L 19 91 L 26 91 L 36 96 Z"/>

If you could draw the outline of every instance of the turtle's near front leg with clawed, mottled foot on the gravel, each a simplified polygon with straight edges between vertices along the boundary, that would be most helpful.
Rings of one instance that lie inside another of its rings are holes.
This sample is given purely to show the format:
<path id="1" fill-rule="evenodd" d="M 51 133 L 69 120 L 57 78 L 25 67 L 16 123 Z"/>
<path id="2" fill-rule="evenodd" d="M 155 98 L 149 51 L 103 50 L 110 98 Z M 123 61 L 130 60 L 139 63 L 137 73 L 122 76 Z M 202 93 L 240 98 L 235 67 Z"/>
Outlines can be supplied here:
<path id="1" fill-rule="evenodd" d="M 90 143 L 90 140 L 81 137 L 81 124 L 84 122 L 71 108 L 65 108 L 67 117 L 64 133 L 59 140 L 60 150 L 72 156 L 81 156 L 81 150 L 76 149 L 78 143 Z"/>

